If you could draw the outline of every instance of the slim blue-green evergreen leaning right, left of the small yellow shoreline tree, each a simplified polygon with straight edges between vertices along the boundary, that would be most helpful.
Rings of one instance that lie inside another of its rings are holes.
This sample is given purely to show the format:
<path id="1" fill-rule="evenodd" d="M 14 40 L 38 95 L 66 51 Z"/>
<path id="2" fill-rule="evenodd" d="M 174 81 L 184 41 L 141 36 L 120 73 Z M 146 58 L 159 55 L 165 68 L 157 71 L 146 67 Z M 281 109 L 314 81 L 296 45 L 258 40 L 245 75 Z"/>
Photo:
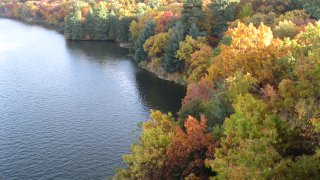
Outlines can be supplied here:
<path id="1" fill-rule="evenodd" d="M 143 49 L 143 44 L 147 39 L 154 35 L 155 25 L 151 20 L 147 22 L 137 41 L 135 42 L 135 54 L 136 61 L 141 62 L 148 58 L 148 54 Z"/>

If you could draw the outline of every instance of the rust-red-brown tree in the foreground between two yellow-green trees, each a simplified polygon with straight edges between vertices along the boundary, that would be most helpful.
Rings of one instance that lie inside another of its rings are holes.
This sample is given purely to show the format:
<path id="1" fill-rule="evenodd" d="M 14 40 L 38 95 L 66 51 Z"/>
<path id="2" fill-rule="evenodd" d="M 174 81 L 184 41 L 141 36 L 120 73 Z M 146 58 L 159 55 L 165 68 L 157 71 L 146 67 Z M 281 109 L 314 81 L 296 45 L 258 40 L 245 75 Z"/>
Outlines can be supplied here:
<path id="1" fill-rule="evenodd" d="M 185 131 L 176 128 L 173 142 L 167 149 L 168 177 L 179 173 L 183 177 L 193 173 L 200 179 L 208 178 L 210 173 L 206 171 L 205 159 L 213 159 L 215 148 L 219 141 L 213 139 L 207 132 L 206 119 L 197 119 L 189 116 L 185 121 Z"/>

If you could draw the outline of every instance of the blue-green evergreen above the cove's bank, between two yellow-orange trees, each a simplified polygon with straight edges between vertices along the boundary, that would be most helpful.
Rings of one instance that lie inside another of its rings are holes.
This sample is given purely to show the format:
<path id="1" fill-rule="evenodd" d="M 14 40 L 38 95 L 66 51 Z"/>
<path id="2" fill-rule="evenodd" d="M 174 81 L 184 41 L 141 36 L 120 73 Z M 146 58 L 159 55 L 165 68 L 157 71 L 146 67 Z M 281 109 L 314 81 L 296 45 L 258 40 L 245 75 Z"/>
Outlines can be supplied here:
<path id="1" fill-rule="evenodd" d="M 164 48 L 163 68 L 168 73 L 174 73 L 182 69 L 184 63 L 176 55 L 179 50 L 179 43 L 183 41 L 184 30 L 182 23 L 178 21 L 170 34 L 167 45 Z"/>

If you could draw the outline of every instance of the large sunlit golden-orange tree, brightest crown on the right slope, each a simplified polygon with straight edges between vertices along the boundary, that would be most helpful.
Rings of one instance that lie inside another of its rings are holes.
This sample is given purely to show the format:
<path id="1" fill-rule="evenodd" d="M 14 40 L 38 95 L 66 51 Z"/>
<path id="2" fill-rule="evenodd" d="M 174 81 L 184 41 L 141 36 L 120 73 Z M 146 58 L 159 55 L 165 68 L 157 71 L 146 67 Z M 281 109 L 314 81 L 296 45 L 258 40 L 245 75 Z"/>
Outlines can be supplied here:
<path id="1" fill-rule="evenodd" d="M 272 82 L 275 63 L 288 53 L 280 39 L 274 39 L 270 27 L 263 23 L 258 28 L 253 24 L 239 23 L 226 32 L 232 38 L 230 46 L 221 45 L 221 52 L 212 59 L 208 79 L 216 81 L 232 76 L 242 70 L 260 82 Z"/>

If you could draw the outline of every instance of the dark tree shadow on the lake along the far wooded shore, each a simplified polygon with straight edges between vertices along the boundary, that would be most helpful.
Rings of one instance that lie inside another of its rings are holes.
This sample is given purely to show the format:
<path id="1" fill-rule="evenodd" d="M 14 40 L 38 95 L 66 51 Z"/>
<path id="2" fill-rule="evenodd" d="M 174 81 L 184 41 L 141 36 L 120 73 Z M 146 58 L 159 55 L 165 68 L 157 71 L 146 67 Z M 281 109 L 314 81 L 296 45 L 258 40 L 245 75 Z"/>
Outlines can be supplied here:
<path id="1" fill-rule="evenodd" d="M 159 79 L 156 75 L 141 69 L 128 56 L 129 50 L 111 41 L 67 41 L 72 56 L 84 55 L 100 65 L 110 61 L 128 61 L 134 70 L 135 87 L 143 103 L 149 109 L 159 109 L 176 115 L 186 93 L 186 88 L 173 82 Z"/>

